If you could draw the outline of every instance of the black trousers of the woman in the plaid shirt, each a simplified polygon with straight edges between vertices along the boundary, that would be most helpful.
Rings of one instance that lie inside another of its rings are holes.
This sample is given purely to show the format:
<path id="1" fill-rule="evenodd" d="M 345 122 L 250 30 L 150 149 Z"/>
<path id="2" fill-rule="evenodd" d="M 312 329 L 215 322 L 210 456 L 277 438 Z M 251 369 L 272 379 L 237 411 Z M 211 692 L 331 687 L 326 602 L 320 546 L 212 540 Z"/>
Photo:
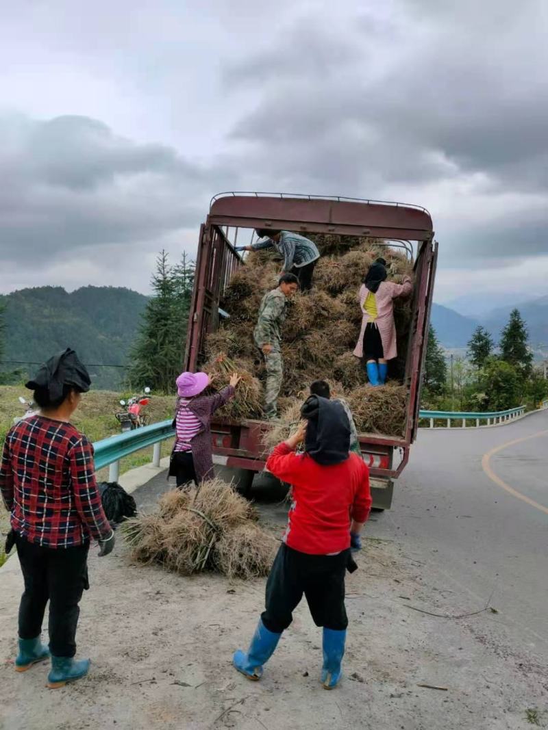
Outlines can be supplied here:
<path id="1" fill-rule="evenodd" d="M 75 656 L 80 599 L 88 583 L 89 543 L 73 548 L 44 548 L 15 537 L 25 592 L 19 606 L 19 637 L 34 639 L 42 631 L 47 601 L 53 656 Z"/>

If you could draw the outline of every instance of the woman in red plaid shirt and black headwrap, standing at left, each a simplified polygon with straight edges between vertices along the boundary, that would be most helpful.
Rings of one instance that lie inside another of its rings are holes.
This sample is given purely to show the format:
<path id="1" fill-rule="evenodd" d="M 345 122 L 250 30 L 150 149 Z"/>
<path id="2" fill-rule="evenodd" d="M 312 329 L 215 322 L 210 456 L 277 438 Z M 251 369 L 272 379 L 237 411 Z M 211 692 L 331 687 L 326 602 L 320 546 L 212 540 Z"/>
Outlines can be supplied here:
<path id="1" fill-rule="evenodd" d="M 34 390 L 39 414 L 8 432 L 0 466 L 0 491 L 12 526 L 6 548 L 17 546 L 25 581 L 15 669 L 25 672 L 51 656 L 52 688 L 88 672 L 89 659 L 74 656 L 78 604 L 89 587 L 89 544 L 99 542 L 100 556 L 114 546 L 96 485 L 93 447 L 69 422 L 90 385 L 74 350 L 50 358 L 26 384 Z M 40 640 L 48 599 L 49 650 Z"/>

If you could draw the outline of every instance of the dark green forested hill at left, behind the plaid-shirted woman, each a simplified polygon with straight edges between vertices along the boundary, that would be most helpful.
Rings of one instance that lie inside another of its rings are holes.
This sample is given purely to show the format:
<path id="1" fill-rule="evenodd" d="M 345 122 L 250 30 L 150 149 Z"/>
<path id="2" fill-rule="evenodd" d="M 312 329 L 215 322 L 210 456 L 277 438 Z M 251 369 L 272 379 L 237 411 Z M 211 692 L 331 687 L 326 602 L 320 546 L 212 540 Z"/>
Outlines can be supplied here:
<path id="1" fill-rule="evenodd" d="M 124 365 L 147 297 L 126 288 L 85 286 L 20 289 L 0 297 L 7 304 L 4 360 L 43 362 L 66 347 L 91 365 Z M 15 366 L 1 366 L 2 369 Z M 28 365 L 32 371 L 36 366 Z M 90 368 L 97 388 L 119 388 L 123 370 Z"/>

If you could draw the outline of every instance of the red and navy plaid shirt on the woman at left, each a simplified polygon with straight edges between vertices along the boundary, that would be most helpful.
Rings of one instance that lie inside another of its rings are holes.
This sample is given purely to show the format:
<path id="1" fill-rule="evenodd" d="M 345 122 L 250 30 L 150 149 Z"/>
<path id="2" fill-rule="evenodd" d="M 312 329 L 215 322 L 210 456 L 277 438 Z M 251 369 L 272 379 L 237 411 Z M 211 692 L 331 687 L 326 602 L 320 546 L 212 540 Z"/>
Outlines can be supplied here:
<path id="1" fill-rule="evenodd" d="M 112 532 L 93 446 L 70 423 L 33 416 L 13 426 L 4 442 L 0 491 L 12 528 L 28 542 L 68 548 Z"/>

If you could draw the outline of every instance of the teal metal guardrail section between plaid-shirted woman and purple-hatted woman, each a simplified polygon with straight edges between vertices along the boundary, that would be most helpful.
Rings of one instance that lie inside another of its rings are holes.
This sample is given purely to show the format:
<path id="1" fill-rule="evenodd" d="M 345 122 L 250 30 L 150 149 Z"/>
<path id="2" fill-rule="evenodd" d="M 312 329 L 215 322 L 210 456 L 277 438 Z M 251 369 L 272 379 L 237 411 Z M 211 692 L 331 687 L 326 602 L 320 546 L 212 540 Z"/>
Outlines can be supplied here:
<path id="1" fill-rule="evenodd" d="M 175 435 L 171 424 L 171 420 L 161 420 L 159 423 L 152 423 L 151 426 L 143 426 L 141 429 L 97 441 L 94 443 L 95 468 L 99 470 L 104 466 L 110 466 L 108 480 L 117 482 L 120 475 L 120 459 L 148 446 L 153 446 L 153 465 L 160 466 L 161 442 Z"/>

